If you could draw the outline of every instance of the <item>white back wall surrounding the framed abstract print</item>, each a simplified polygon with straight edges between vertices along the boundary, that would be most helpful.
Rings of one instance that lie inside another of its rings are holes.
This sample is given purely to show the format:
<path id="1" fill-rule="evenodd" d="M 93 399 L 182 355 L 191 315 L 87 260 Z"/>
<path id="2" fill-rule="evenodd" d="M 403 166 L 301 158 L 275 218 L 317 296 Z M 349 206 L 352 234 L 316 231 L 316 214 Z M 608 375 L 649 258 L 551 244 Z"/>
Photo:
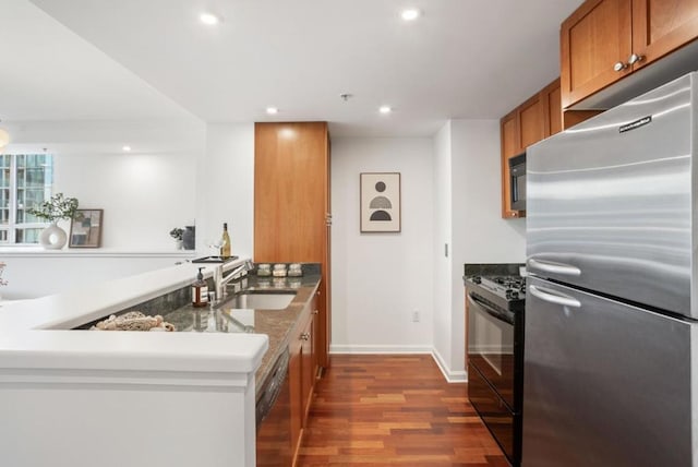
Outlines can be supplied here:
<path id="1" fill-rule="evenodd" d="M 431 350 L 432 157 L 430 139 L 333 139 L 332 351 Z M 374 171 L 401 173 L 399 234 L 360 232 L 359 175 Z"/>

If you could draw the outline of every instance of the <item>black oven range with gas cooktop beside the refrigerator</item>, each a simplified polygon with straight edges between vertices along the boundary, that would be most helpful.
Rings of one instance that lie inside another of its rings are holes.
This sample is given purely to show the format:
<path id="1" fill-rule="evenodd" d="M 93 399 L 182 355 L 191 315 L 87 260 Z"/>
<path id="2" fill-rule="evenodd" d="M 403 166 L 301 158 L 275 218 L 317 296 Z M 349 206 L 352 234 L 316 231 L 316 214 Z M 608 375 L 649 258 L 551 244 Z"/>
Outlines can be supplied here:
<path id="1" fill-rule="evenodd" d="M 466 277 L 468 398 L 513 466 L 521 462 L 526 278 Z"/>

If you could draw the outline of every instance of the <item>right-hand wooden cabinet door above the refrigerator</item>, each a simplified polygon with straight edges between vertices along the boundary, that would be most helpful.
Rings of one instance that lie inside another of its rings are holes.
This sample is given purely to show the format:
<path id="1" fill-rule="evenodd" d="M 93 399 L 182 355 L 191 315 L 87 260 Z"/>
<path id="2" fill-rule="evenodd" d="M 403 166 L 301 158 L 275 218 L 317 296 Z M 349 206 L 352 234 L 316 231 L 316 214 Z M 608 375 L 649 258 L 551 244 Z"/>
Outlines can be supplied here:
<path id="1" fill-rule="evenodd" d="M 698 37 L 698 0 L 633 0 L 633 53 L 641 68 Z"/>

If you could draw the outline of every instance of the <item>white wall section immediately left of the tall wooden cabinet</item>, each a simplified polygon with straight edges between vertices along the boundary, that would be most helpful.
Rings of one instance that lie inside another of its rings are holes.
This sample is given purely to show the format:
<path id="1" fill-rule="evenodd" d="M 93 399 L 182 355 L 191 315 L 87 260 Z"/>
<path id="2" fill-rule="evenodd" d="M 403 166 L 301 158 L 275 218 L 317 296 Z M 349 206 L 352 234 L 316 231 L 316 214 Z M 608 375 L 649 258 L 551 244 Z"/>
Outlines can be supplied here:
<path id="1" fill-rule="evenodd" d="M 196 249 L 212 254 L 206 243 L 228 223 L 232 254 L 254 252 L 254 124 L 212 123 L 206 128 L 206 152 L 196 190 Z"/>

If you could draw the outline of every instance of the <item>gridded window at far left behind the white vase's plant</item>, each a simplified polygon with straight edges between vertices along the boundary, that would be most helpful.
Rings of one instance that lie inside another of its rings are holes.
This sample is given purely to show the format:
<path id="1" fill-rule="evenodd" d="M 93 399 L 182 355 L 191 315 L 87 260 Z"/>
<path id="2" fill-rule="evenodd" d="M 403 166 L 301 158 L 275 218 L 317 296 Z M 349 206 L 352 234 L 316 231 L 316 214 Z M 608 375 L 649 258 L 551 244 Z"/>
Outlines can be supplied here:
<path id="1" fill-rule="evenodd" d="M 38 243 L 48 225 L 26 212 L 51 197 L 53 156 L 0 154 L 0 244 Z"/>

